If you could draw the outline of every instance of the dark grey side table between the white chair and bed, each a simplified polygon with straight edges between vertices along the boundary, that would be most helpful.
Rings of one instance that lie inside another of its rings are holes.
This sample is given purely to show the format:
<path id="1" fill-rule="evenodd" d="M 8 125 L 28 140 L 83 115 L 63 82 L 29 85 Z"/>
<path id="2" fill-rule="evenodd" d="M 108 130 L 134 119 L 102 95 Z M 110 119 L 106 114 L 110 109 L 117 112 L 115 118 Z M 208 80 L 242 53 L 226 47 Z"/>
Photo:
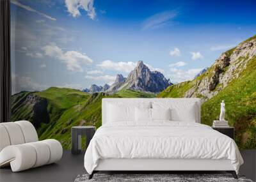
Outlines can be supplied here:
<path id="1" fill-rule="evenodd" d="M 71 139 L 72 139 L 72 154 L 81 153 L 81 136 L 86 135 L 86 148 L 96 131 L 95 126 L 72 126 Z"/>

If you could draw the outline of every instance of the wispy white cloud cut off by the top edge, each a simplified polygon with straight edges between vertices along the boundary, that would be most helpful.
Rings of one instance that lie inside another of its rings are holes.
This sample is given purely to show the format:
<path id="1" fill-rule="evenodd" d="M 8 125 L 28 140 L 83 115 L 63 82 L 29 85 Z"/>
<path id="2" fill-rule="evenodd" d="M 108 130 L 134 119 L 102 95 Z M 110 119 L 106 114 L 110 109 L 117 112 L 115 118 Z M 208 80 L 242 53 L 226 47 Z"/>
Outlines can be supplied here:
<path id="1" fill-rule="evenodd" d="M 96 12 L 93 6 L 93 1 L 94 0 L 65 0 L 65 4 L 72 17 L 79 17 L 81 15 L 79 9 L 81 9 L 85 10 L 90 19 L 94 20 Z"/>

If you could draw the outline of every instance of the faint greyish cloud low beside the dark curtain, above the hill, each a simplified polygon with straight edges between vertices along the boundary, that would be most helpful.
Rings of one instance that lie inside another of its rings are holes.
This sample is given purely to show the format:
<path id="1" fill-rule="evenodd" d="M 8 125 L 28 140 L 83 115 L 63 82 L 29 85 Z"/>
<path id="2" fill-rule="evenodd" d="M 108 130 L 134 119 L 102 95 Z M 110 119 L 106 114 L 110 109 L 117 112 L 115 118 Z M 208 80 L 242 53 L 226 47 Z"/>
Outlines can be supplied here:
<path id="1" fill-rule="evenodd" d="M 31 77 L 19 77 L 12 73 L 12 93 L 19 93 L 20 91 L 42 91 L 47 89 L 44 84 L 35 82 Z"/>

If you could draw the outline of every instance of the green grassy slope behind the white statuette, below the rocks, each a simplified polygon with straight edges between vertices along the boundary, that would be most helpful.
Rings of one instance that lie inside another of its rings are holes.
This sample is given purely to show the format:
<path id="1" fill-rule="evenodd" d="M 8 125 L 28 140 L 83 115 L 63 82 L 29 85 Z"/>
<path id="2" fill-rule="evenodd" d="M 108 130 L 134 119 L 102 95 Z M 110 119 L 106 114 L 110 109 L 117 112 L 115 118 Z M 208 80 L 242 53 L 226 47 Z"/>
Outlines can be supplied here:
<path id="1" fill-rule="evenodd" d="M 256 148 L 256 57 L 239 79 L 203 103 L 202 123 L 212 125 L 212 120 L 218 119 L 221 100 L 225 100 L 226 119 L 235 127 L 239 148 Z"/>

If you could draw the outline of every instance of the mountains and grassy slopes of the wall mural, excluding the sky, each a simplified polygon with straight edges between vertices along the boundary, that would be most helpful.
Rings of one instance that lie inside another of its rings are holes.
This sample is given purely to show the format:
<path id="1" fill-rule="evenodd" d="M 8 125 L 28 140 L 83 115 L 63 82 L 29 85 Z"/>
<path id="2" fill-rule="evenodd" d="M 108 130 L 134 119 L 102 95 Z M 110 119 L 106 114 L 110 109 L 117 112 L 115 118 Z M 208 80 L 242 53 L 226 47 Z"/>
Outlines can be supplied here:
<path id="1" fill-rule="evenodd" d="M 90 89 L 49 87 L 22 91 L 12 96 L 12 120 L 26 119 L 35 125 L 40 139 L 60 140 L 70 148 L 70 128 L 101 125 L 102 98 L 202 98 L 202 120 L 212 125 L 225 100 L 227 119 L 235 127 L 240 148 L 256 148 L 256 36 L 223 52 L 195 79 L 172 84 L 160 72 L 138 61 L 127 78 L 116 75 L 111 86 Z M 235 106 L 235 107 L 234 107 Z"/>

